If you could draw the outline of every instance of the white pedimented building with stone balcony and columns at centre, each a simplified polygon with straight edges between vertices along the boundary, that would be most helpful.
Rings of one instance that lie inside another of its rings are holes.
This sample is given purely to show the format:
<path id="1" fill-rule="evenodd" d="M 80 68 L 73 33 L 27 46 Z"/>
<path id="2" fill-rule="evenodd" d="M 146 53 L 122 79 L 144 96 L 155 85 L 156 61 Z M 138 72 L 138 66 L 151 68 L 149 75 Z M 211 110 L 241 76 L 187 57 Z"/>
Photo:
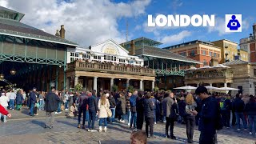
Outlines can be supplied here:
<path id="1" fill-rule="evenodd" d="M 88 48 L 69 49 L 67 55 L 68 88 L 81 83 L 86 90 L 111 90 L 114 85 L 118 90 L 128 86 L 154 89 L 155 71 L 111 39 Z"/>

